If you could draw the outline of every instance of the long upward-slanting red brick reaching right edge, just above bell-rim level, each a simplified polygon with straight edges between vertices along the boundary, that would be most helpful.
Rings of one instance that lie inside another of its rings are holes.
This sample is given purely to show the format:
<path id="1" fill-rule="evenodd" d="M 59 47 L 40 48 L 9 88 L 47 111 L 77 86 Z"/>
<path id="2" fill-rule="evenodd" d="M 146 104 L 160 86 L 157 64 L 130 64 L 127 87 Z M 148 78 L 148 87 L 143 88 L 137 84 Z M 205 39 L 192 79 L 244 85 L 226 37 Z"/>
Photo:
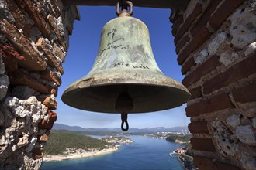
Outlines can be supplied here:
<path id="1" fill-rule="evenodd" d="M 240 63 L 231 66 L 229 70 L 216 75 L 213 79 L 204 83 L 203 92 L 211 93 L 254 73 L 256 73 L 256 53 L 251 54 Z"/>

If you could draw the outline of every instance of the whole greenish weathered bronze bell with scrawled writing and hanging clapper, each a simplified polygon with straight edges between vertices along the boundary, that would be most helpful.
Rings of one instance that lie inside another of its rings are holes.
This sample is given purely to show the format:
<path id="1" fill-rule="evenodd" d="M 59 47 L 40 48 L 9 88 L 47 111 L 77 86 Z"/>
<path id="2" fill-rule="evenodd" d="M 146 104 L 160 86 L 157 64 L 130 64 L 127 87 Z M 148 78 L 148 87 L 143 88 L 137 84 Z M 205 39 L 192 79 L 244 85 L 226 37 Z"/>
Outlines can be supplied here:
<path id="1" fill-rule="evenodd" d="M 132 11 L 132 5 L 130 8 Z M 81 110 L 121 113 L 126 123 L 126 129 L 123 123 L 122 129 L 126 131 L 127 113 L 178 107 L 189 99 L 190 93 L 182 83 L 161 73 L 147 26 L 131 17 L 131 12 L 123 11 L 103 27 L 92 70 L 67 87 L 61 100 Z"/>

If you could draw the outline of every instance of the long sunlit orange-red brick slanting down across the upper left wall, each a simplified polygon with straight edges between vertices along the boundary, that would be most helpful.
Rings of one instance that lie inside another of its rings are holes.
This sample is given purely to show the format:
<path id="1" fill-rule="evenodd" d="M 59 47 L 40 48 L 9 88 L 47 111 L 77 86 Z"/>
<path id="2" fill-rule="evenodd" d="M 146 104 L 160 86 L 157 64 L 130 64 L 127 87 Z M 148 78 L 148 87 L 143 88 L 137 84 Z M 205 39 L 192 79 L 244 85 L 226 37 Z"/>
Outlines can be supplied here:
<path id="1" fill-rule="evenodd" d="M 18 65 L 31 71 L 45 70 L 47 63 L 43 56 L 33 48 L 29 40 L 19 30 L 5 19 L 0 19 L 0 33 L 4 34 L 25 60 L 19 60 Z"/>

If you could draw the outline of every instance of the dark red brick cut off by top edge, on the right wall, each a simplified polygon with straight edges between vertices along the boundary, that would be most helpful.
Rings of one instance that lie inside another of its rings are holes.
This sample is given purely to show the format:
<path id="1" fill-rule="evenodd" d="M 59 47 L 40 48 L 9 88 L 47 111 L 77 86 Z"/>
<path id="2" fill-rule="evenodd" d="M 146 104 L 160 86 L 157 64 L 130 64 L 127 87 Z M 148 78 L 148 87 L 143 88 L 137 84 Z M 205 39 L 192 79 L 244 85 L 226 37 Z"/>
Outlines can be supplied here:
<path id="1" fill-rule="evenodd" d="M 242 5 L 244 0 L 233 0 L 230 3 L 230 0 L 226 0 L 220 5 L 219 8 L 213 13 L 211 18 L 209 19 L 209 25 L 214 29 L 217 30 L 226 21 L 227 17 L 234 12 L 234 10 Z"/>

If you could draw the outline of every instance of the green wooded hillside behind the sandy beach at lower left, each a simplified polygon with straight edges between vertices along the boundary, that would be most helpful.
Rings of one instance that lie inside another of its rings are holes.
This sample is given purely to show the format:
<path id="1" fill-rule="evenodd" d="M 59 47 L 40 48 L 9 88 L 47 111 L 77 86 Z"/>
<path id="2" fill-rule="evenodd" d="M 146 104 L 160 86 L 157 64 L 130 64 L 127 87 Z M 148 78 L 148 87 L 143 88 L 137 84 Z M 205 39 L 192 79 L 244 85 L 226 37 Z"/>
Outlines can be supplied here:
<path id="1" fill-rule="evenodd" d="M 46 155 L 63 155 L 66 148 L 82 148 L 86 151 L 92 148 L 109 147 L 111 144 L 96 138 L 81 134 L 74 134 L 71 131 L 51 131 L 47 145 L 44 147 Z"/>

